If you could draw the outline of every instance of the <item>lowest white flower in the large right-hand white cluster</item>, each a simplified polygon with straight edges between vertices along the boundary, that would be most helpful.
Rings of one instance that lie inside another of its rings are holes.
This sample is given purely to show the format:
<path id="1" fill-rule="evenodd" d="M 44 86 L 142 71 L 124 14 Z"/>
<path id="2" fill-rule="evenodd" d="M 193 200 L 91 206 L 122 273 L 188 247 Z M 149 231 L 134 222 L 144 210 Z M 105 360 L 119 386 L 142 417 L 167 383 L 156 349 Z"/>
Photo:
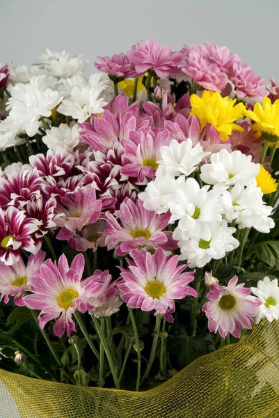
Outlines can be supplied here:
<path id="1" fill-rule="evenodd" d="M 190 239 L 187 231 L 176 228 L 173 238 L 178 240 L 180 260 L 186 260 L 189 267 L 201 268 L 209 261 L 225 257 L 225 253 L 239 246 L 239 241 L 232 236 L 235 228 L 228 228 L 227 222 L 205 224 L 200 233 Z"/>

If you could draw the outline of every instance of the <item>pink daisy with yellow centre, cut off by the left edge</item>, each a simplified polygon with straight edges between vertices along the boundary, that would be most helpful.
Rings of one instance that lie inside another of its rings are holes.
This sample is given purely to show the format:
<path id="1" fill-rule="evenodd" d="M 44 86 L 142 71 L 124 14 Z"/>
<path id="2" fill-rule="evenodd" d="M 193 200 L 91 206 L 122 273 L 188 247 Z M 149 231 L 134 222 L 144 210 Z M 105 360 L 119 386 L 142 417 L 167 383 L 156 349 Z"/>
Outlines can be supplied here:
<path id="1" fill-rule="evenodd" d="M 26 265 L 21 257 L 14 265 L 0 263 L 0 300 L 8 303 L 10 295 L 17 306 L 23 307 L 24 292 L 31 289 L 29 279 L 40 269 L 44 259 L 45 252 L 39 251 L 35 256 L 29 256 Z"/>

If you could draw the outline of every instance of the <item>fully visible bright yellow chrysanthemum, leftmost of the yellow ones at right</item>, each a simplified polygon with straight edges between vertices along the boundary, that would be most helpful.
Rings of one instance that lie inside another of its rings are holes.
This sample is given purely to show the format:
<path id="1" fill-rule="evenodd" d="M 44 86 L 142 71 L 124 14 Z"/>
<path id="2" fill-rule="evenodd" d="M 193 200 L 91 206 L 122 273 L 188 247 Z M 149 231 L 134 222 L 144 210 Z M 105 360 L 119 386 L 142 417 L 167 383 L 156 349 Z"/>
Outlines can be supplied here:
<path id="1" fill-rule="evenodd" d="M 196 94 L 191 95 L 191 115 L 200 119 L 200 130 L 207 123 L 211 123 L 219 132 L 222 141 L 228 141 L 232 130 L 243 132 L 244 129 L 234 123 L 243 118 L 245 106 L 243 103 L 235 104 L 237 100 L 228 97 L 222 98 L 218 92 L 205 90 L 200 98 Z"/>

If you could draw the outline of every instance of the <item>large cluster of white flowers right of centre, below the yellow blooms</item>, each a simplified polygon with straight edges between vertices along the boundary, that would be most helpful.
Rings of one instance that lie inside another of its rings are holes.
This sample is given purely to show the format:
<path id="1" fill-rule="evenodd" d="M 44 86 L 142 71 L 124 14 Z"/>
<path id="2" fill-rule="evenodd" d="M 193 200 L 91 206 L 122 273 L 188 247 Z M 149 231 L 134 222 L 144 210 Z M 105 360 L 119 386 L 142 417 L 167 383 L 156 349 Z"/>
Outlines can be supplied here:
<path id="1" fill-rule="evenodd" d="M 178 240 L 180 259 L 191 268 L 223 258 L 239 246 L 234 224 L 264 233 L 273 228 L 272 208 L 257 187 L 260 164 L 251 162 L 250 156 L 223 148 L 200 167 L 209 153 L 200 144 L 192 146 L 191 139 L 182 144 L 171 141 L 161 147 L 161 155 L 155 180 L 139 197 L 146 209 L 170 211 L 170 223 L 177 222 L 173 238 Z M 199 183 L 187 177 L 197 170 Z"/>

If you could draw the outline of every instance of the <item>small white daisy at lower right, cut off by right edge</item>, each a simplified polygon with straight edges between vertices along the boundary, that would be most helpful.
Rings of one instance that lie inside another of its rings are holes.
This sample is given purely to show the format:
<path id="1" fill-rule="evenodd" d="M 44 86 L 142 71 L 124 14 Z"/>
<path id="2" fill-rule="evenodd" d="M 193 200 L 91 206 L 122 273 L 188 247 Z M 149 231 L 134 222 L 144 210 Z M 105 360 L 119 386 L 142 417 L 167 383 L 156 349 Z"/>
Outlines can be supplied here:
<path id="1" fill-rule="evenodd" d="M 258 308 L 255 322 L 259 323 L 262 318 L 269 322 L 279 319 L 279 287 L 277 279 L 264 277 L 257 282 L 257 287 L 252 287 L 251 291 L 256 295 L 262 304 Z"/>

